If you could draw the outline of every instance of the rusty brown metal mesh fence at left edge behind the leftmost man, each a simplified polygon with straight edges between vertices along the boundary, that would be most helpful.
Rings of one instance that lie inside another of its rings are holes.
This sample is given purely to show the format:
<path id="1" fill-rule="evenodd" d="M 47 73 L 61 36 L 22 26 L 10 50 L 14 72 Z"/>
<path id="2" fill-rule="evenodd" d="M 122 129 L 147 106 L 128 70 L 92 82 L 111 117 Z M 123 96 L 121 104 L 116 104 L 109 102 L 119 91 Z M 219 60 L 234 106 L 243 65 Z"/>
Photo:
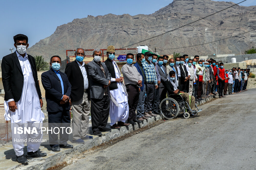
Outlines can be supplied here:
<path id="1" fill-rule="evenodd" d="M 11 122 L 4 119 L 4 104 L 0 104 L 0 141 L 12 140 Z"/>

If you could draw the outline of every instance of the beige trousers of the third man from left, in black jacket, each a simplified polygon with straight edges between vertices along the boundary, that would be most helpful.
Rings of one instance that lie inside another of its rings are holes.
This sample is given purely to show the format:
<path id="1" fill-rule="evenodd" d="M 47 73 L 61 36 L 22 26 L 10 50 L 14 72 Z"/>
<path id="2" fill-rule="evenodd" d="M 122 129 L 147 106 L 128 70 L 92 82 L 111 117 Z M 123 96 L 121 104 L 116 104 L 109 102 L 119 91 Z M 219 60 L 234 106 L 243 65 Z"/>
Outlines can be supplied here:
<path id="1" fill-rule="evenodd" d="M 73 140 L 86 137 L 90 114 L 90 100 L 87 92 L 84 92 L 80 100 L 72 101 L 72 114 Z"/>

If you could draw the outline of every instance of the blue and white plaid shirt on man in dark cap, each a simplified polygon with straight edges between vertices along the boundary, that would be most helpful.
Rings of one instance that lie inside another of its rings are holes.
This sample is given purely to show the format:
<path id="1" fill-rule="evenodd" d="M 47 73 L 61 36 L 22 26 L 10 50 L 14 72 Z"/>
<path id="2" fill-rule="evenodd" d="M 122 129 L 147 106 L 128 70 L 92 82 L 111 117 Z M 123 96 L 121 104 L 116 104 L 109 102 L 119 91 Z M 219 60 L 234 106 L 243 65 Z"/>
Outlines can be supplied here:
<path id="1" fill-rule="evenodd" d="M 155 66 L 153 63 L 148 64 L 147 61 L 142 63 L 143 69 L 145 71 L 146 75 L 146 82 L 147 83 L 152 83 L 154 82 L 155 85 L 157 85 L 157 80 L 156 80 L 156 70 Z"/>

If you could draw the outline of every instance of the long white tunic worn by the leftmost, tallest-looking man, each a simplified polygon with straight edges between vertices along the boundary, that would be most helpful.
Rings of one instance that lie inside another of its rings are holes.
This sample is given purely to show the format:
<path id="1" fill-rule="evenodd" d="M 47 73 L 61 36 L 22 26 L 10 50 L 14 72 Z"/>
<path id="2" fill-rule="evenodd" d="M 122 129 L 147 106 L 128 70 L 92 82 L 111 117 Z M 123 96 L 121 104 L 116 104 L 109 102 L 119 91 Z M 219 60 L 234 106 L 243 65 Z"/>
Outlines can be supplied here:
<path id="1" fill-rule="evenodd" d="M 28 55 L 25 53 L 25 57 L 23 58 L 17 51 L 16 54 L 24 76 L 23 89 L 20 100 L 16 102 L 18 109 L 16 109 L 15 112 L 10 111 L 8 106 L 8 102 L 14 101 L 14 99 L 4 101 L 5 120 L 9 121 L 12 119 L 14 123 L 43 121 L 45 116 L 41 111 L 39 95 L 37 93 Z"/>

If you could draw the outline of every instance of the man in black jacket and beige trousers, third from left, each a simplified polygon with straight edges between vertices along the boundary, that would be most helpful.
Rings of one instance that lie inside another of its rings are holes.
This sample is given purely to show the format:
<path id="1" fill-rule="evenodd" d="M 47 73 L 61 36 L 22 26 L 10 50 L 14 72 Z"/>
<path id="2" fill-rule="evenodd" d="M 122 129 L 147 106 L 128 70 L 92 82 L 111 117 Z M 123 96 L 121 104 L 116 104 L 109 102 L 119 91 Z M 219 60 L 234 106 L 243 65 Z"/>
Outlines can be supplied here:
<path id="1" fill-rule="evenodd" d="M 85 51 L 77 48 L 75 51 L 76 60 L 66 66 L 65 73 L 71 87 L 70 102 L 72 106 L 72 127 L 73 143 L 84 143 L 83 140 L 92 139 L 88 134 L 89 114 L 90 114 L 90 93 L 88 67 L 83 59 Z"/>

